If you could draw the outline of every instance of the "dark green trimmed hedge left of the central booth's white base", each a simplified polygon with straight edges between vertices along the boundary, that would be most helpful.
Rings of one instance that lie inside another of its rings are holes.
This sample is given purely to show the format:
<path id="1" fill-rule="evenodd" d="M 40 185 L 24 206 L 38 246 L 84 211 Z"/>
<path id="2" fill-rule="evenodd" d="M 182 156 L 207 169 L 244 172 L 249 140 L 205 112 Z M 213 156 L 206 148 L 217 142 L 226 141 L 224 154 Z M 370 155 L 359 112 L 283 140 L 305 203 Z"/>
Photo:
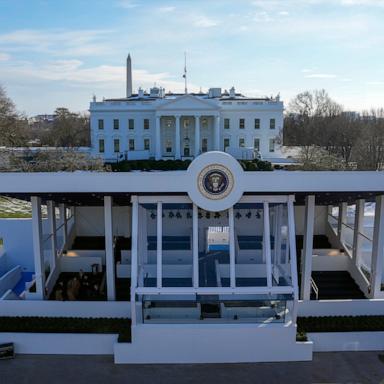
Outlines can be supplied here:
<path id="1" fill-rule="evenodd" d="M 80 317 L 0 317 L 0 332 L 117 333 L 119 341 L 131 341 L 131 320 Z"/>

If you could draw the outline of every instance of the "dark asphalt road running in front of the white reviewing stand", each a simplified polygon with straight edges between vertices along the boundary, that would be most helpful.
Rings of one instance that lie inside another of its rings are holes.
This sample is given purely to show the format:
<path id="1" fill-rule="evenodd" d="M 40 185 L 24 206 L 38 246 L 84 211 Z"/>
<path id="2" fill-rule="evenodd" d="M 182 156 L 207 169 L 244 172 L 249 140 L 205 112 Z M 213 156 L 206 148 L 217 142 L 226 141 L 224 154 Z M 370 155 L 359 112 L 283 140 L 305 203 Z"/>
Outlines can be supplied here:
<path id="1" fill-rule="evenodd" d="M 0 383 L 384 384 L 384 352 L 316 353 L 312 362 L 211 365 L 114 365 L 111 356 L 19 355 L 0 361 Z"/>

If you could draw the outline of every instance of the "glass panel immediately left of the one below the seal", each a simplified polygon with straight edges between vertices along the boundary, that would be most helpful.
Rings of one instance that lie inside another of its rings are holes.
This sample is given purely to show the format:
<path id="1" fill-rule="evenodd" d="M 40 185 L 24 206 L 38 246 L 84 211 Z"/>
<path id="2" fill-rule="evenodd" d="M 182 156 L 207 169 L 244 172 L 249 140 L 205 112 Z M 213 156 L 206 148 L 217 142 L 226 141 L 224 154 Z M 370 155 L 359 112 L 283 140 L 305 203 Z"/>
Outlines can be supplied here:
<path id="1" fill-rule="evenodd" d="M 192 204 L 163 204 L 163 287 L 192 287 Z"/>

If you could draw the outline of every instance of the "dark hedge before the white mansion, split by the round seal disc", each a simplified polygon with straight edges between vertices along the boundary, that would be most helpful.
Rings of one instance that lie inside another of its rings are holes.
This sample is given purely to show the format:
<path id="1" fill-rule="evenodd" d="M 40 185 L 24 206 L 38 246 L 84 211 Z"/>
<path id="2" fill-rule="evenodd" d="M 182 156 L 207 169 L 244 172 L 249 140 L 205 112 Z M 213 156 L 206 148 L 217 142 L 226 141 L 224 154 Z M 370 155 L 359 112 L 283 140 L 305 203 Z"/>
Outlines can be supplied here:
<path id="1" fill-rule="evenodd" d="M 130 171 L 185 171 L 191 160 L 124 160 L 119 163 L 110 163 L 114 172 Z M 240 160 L 245 171 L 272 171 L 272 165 L 263 160 Z"/>

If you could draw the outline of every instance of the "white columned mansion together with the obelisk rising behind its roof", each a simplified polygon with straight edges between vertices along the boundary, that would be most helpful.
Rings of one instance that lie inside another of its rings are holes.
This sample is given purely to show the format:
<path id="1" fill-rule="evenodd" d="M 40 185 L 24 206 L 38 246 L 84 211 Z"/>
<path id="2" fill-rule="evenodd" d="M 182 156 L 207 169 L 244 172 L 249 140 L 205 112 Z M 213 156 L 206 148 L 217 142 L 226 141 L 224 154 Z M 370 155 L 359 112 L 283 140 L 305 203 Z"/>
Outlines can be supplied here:
<path id="1" fill-rule="evenodd" d="M 154 86 L 133 94 L 128 56 L 126 97 L 90 104 L 92 154 L 106 161 L 193 159 L 213 150 L 279 158 L 283 108 L 279 96 L 246 97 L 234 87 L 177 94 Z"/>

